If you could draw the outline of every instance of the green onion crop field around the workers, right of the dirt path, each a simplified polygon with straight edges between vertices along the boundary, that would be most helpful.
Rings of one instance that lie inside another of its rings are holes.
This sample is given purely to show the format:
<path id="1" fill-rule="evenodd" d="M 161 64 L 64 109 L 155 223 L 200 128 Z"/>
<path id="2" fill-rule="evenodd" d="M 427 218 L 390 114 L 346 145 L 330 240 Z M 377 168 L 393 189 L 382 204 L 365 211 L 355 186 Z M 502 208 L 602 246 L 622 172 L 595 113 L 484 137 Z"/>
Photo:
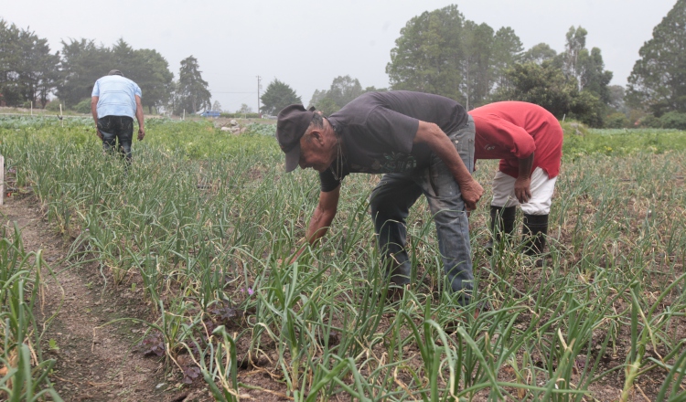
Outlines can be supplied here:
<path id="1" fill-rule="evenodd" d="M 387 302 L 375 175 L 348 176 L 325 241 L 286 264 L 319 187 L 311 170 L 283 173 L 273 125 L 151 120 L 125 170 L 90 119 L 0 118 L 0 153 L 72 266 L 143 290 L 144 349 L 217 400 L 683 401 L 686 132 L 564 128 L 542 267 L 517 244 L 485 253 L 497 163 L 477 164 L 466 308 L 445 291 L 423 200 L 408 219 L 413 285 Z M 491 309 L 475 318 L 480 302 Z"/>

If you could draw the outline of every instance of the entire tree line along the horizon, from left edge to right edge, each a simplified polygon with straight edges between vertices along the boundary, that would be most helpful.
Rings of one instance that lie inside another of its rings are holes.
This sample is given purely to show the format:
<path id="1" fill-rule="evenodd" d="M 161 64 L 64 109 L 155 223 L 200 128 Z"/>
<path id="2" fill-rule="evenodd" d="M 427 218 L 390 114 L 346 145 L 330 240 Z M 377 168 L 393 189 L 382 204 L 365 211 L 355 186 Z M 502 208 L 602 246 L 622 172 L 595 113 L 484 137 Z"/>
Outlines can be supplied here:
<path id="1" fill-rule="evenodd" d="M 587 31 L 572 26 L 562 53 L 545 43 L 526 51 L 508 26 L 495 30 L 467 20 L 456 5 L 413 17 L 401 30 L 386 66 L 391 90 L 436 93 L 467 109 L 497 100 L 540 104 L 558 118 L 567 116 L 593 126 L 622 126 L 644 119 L 653 125 L 686 122 L 686 0 L 677 0 L 639 51 L 625 91 L 609 86 L 601 50 L 586 48 Z M 209 109 L 210 93 L 198 60 L 181 61 L 178 79 L 153 49 L 133 49 L 120 39 L 112 48 L 92 40 L 62 41 L 61 54 L 50 53 L 47 40 L 0 19 L 0 103 L 28 101 L 45 106 L 54 92 L 68 105 L 90 98 L 92 85 L 106 71 L 125 71 L 144 89 L 149 108 L 180 114 Z M 337 77 L 328 90 L 316 90 L 310 106 L 327 114 L 373 87 L 358 79 Z M 385 90 L 385 89 L 381 89 Z M 625 97 L 626 92 L 626 97 Z M 626 98 L 626 102 L 625 102 Z M 301 98 L 274 79 L 261 97 L 260 111 L 276 114 Z M 214 109 L 220 109 L 216 102 Z M 247 106 L 241 107 L 241 111 Z M 677 114 L 674 114 L 677 113 Z M 663 115 L 665 119 L 659 120 Z M 662 122 L 664 121 L 664 122 Z"/>

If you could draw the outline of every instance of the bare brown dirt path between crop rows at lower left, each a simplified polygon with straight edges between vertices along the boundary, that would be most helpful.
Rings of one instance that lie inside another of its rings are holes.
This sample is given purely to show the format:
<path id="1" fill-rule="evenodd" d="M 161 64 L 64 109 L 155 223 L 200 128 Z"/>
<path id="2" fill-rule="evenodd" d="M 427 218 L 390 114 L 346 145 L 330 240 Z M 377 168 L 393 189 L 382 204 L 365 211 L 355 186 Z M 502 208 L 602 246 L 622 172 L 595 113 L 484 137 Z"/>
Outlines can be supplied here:
<path id="1" fill-rule="evenodd" d="M 73 267 L 64 261 L 70 244 L 50 230 L 33 197 L 5 199 L 0 220 L 9 227 L 16 222 L 24 248 L 42 249 L 57 274 L 56 282 L 44 272 L 46 298 L 42 311 L 35 314 L 43 323 L 57 312 L 42 348 L 44 358 L 57 359 L 51 379 L 65 401 L 209 400 L 206 392 L 180 388 L 159 358 L 135 350 L 144 326 L 130 321 L 102 326 L 118 318 L 140 317 L 149 308 L 140 292 L 103 288 L 97 266 Z"/>

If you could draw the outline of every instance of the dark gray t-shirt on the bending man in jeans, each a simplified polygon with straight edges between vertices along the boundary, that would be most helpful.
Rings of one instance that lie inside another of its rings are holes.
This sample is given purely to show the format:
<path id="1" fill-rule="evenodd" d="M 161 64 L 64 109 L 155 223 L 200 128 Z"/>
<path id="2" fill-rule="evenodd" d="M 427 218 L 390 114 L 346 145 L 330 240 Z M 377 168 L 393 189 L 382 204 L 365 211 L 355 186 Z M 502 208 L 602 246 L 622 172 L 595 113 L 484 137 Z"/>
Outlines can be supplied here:
<path id="1" fill-rule="evenodd" d="M 328 118 L 345 149 L 338 178 L 423 169 L 431 161 L 431 149 L 425 143 L 413 144 L 419 122 L 433 122 L 449 134 L 467 119 L 462 105 L 439 95 L 407 90 L 365 93 Z M 323 192 L 340 185 L 331 171 L 338 169 L 337 162 L 319 174 Z"/>

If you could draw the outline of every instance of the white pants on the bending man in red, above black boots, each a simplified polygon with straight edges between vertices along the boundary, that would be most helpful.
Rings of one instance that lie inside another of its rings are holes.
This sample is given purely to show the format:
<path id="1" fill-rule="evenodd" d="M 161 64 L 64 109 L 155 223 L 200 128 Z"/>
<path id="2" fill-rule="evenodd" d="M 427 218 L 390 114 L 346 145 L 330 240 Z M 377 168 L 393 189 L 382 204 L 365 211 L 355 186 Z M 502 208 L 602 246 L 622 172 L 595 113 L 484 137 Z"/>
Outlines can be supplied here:
<path id="1" fill-rule="evenodd" d="M 493 178 L 493 201 L 491 206 L 519 206 L 514 194 L 515 179 L 498 171 Z M 531 174 L 531 198 L 521 204 L 521 212 L 528 215 L 548 215 L 551 212 L 552 190 L 557 177 L 549 178 L 543 169 L 537 167 Z"/>

